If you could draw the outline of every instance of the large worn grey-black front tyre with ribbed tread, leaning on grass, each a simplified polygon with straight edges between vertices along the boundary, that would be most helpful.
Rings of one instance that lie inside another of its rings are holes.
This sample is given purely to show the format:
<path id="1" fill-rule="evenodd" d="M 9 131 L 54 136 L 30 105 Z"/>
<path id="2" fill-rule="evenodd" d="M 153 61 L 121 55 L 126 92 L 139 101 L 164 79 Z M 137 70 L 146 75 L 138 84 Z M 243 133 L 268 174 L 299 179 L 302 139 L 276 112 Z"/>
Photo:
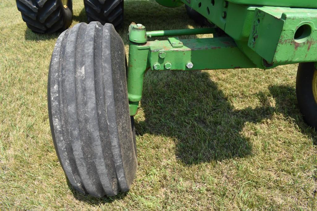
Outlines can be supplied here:
<path id="1" fill-rule="evenodd" d="M 55 150 L 72 186 L 96 197 L 128 191 L 138 164 L 125 48 L 112 24 L 79 23 L 58 37 L 48 108 Z"/>

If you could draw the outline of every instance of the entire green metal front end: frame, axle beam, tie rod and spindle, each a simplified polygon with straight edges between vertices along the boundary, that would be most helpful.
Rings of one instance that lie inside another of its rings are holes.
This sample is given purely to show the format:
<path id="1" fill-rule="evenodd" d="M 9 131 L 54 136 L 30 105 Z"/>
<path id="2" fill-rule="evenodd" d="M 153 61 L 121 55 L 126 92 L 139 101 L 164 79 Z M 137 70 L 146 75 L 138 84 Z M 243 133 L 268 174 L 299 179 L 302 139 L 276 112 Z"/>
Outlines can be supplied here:
<path id="1" fill-rule="evenodd" d="M 169 37 L 163 41 L 147 42 L 147 37 L 209 34 L 215 33 L 216 29 L 146 32 L 144 26 L 131 25 L 127 74 L 130 115 L 137 113 L 147 69 L 268 69 L 311 61 L 317 66 L 317 9 L 272 7 L 275 6 L 273 0 L 180 1 L 229 36 L 184 40 Z M 248 5 L 251 2 L 253 6 Z M 315 7 L 316 4 L 308 0 L 304 3 L 293 0 L 276 2 L 276 6 L 288 7 Z M 254 6 L 262 4 L 263 7 Z"/>

